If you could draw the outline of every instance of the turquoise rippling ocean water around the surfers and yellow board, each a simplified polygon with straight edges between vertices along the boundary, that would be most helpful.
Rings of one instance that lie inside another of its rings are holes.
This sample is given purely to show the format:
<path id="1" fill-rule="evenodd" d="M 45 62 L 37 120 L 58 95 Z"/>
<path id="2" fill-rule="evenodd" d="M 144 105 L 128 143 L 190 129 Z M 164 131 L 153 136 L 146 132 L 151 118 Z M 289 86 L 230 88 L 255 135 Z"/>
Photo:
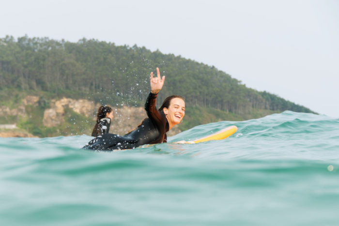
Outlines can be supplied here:
<path id="1" fill-rule="evenodd" d="M 339 225 L 339 119 L 285 111 L 224 140 L 134 150 L 91 136 L 0 138 L 0 225 Z"/>

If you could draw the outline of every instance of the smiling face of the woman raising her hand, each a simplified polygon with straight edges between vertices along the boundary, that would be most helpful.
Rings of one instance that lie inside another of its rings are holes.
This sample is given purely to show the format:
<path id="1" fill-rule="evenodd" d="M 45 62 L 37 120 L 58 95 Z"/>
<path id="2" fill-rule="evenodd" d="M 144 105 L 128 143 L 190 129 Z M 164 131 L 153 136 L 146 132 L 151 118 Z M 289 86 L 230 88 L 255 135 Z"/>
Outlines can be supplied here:
<path id="1" fill-rule="evenodd" d="M 164 107 L 164 113 L 170 125 L 180 123 L 185 116 L 185 101 L 181 98 L 173 98 L 170 100 L 169 108 Z"/>

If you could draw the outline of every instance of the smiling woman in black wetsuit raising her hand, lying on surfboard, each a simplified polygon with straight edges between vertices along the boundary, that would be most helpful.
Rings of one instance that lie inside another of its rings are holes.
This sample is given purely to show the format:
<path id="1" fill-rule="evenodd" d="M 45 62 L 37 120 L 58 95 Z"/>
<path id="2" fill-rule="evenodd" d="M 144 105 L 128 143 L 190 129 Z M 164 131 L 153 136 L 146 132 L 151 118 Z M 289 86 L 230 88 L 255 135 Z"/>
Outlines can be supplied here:
<path id="1" fill-rule="evenodd" d="M 156 109 L 156 96 L 165 81 L 165 76 L 160 78 L 159 68 L 156 68 L 156 74 L 157 76 L 153 77 L 153 72 L 151 73 L 151 92 L 145 103 L 148 118 L 144 119 L 136 129 L 124 136 L 104 134 L 92 139 L 83 149 L 112 151 L 133 149 L 144 144 L 167 142 L 166 133 L 174 125 L 180 123 L 185 116 L 185 101 L 181 96 L 172 95 L 164 100 L 159 109 Z"/>

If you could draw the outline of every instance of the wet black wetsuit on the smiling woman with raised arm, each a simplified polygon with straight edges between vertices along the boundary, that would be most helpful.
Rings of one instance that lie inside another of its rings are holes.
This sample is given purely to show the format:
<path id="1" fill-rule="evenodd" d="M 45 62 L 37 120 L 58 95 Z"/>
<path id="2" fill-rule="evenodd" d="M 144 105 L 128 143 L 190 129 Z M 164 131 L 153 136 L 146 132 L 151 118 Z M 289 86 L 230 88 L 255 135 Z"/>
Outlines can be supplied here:
<path id="1" fill-rule="evenodd" d="M 155 107 L 157 94 L 150 93 L 147 97 L 145 110 L 148 118 L 133 131 L 119 136 L 104 134 L 92 139 L 83 149 L 112 151 L 116 149 L 132 149 L 144 144 L 158 144 L 167 142 L 166 133 L 169 123 L 165 114 Z"/>

